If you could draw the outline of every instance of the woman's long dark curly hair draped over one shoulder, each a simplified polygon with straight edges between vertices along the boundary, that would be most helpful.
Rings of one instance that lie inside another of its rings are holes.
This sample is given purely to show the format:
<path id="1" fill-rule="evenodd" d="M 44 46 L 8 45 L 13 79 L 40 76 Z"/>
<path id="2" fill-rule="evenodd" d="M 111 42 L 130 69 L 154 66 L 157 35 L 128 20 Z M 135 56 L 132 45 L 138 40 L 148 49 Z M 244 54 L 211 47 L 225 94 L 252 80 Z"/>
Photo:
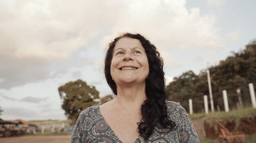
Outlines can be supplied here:
<path id="1" fill-rule="evenodd" d="M 138 124 L 139 134 L 148 139 L 153 134 L 154 126 L 159 123 L 163 128 L 174 128 L 175 123 L 167 116 L 166 98 L 164 89 L 165 78 L 163 71 L 163 60 L 157 48 L 140 34 L 124 33 L 115 38 L 109 44 L 105 56 L 105 77 L 113 93 L 117 95 L 117 85 L 110 74 L 110 65 L 113 57 L 115 44 L 121 38 L 129 37 L 138 39 L 144 47 L 149 65 L 149 74 L 146 79 L 146 100 L 141 105 L 142 118 Z"/>

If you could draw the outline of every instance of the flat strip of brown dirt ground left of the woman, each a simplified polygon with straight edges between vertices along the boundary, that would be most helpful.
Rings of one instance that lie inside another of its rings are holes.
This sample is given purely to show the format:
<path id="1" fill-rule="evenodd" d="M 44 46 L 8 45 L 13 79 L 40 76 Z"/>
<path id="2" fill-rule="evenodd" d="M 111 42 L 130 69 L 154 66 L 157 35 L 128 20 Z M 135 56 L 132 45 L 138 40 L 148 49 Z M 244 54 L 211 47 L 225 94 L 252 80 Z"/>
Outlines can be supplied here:
<path id="1" fill-rule="evenodd" d="M 71 135 L 2 137 L 0 143 L 69 143 Z"/>

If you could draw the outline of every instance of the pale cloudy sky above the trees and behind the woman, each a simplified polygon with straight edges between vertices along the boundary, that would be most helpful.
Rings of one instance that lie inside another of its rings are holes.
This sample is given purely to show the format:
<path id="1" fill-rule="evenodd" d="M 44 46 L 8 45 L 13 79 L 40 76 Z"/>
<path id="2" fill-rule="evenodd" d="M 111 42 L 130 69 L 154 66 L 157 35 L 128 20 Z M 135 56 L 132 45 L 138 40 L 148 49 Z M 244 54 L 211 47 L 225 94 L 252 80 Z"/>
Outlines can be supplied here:
<path id="1" fill-rule="evenodd" d="M 140 33 L 174 77 L 225 60 L 256 39 L 255 0 L 1 0 L 0 118 L 66 119 L 58 87 L 81 79 L 100 97 L 108 43 Z"/>

